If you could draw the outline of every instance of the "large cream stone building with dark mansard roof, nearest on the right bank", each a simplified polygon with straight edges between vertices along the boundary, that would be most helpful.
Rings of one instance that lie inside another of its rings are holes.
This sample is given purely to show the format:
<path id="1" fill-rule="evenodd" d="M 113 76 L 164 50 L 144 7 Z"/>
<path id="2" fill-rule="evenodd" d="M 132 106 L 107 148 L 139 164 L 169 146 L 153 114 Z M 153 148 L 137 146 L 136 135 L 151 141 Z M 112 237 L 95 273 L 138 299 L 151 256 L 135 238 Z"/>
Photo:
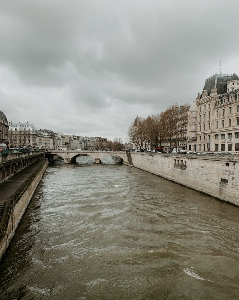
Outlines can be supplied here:
<path id="1" fill-rule="evenodd" d="M 197 95 L 197 151 L 239 151 L 239 77 L 215 74 Z"/>

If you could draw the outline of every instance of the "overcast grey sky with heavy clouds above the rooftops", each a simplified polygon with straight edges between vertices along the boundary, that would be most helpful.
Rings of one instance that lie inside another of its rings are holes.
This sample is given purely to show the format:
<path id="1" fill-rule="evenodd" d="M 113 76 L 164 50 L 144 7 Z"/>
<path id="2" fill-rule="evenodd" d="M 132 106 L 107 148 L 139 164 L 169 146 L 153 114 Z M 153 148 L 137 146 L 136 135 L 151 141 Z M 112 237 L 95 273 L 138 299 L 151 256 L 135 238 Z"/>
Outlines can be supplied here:
<path id="1" fill-rule="evenodd" d="M 239 76 L 239 1 L 1 0 L 0 110 L 8 122 L 122 137 Z"/>

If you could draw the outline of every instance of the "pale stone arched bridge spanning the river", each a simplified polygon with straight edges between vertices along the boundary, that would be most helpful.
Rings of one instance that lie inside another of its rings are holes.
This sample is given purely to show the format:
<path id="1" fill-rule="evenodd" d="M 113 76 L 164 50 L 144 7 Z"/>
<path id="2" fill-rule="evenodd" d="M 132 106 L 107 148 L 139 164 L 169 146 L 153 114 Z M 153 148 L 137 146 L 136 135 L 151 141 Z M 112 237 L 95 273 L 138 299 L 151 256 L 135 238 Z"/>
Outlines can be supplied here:
<path id="1" fill-rule="evenodd" d="M 76 158 L 80 155 L 89 155 L 91 156 L 96 164 L 99 164 L 101 159 L 107 155 L 117 155 L 122 158 L 123 164 L 130 165 L 127 153 L 124 151 L 90 151 L 90 150 L 82 150 L 82 151 L 74 151 L 74 150 L 50 150 L 47 152 L 46 156 L 49 155 L 58 155 L 62 157 L 65 161 L 65 164 L 71 164 L 76 162 Z"/>

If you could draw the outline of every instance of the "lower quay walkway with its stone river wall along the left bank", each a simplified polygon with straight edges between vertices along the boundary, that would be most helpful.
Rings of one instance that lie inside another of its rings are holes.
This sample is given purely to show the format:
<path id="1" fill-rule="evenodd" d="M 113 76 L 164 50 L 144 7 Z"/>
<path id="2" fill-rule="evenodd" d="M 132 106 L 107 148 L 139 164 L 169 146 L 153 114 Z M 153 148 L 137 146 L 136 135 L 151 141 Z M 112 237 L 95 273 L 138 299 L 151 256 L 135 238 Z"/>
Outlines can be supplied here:
<path id="1" fill-rule="evenodd" d="M 12 186 L 11 182 L 9 182 L 9 187 L 7 186 L 7 181 L 2 183 L 4 185 L 1 190 L 1 192 L 3 191 L 2 196 L 4 197 L 4 191 L 5 195 L 7 194 L 8 189 L 12 193 L 10 193 L 10 199 L 7 197 L 5 197 L 5 201 L 1 199 L 1 205 L 4 207 L 4 210 L 0 220 L 0 260 L 12 240 L 47 166 L 48 159 L 39 160 L 29 167 L 28 172 L 25 171 L 22 174 L 19 172 L 17 175 L 14 175 L 18 176 L 19 179 L 22 176 L 23 183 L 19 180 L 19 184 L 16 182 L 16 185 Z M 14 180 L 14 176 L 12 180 Z"/>

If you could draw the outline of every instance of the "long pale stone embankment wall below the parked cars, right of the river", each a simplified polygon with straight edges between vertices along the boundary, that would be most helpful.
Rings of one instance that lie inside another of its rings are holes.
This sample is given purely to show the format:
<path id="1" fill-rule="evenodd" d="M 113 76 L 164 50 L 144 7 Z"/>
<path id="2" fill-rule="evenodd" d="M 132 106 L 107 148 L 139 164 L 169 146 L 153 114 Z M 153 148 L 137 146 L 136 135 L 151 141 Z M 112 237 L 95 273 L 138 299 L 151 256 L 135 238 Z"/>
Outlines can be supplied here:
<path id="1" fill-rule="evenodd" d="M 134 167 L 239 206 L 239 158 L 132 153 Z"/>

